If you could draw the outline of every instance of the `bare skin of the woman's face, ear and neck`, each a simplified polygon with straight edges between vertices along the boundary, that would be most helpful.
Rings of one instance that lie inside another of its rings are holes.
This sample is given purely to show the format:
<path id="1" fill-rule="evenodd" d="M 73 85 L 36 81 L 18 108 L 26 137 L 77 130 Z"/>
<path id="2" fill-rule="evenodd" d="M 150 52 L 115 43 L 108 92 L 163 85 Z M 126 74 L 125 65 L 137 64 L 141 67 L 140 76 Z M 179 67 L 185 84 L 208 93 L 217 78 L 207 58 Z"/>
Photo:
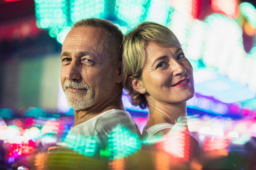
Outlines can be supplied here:
<path id="1" fill-rule="evenodd" d="M 141 79 L 129 78 L 130 85 L 145 94 L 148 101 L 146 128 L 161 123 L 175 124 L 178 117 L 186 116 L 186 101 L 195 93 L 193 68 L 180 46 L 161 47 L 149 42 L 146 53 Z M 177 85 L 182 80 L 186 81 Z"/>

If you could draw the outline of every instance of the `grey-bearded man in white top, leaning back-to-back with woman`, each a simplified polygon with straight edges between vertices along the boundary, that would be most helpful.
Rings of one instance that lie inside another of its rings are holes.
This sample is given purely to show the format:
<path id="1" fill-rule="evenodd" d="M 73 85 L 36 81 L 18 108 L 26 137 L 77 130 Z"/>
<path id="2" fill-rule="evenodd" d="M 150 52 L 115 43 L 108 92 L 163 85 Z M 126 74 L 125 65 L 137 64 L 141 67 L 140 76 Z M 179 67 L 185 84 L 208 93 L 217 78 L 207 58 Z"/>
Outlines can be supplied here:
<path id="1" fill-rule="evenodd" d="M 67 139 L 95 135 L 102 147 L 117 125 L 139 132 L 121 100 L 122 40 L 117 26 L 95 18 L 76 22 L 67 34 L 61 51 L 61 85 L 74 108 L 74 126 Z"/>

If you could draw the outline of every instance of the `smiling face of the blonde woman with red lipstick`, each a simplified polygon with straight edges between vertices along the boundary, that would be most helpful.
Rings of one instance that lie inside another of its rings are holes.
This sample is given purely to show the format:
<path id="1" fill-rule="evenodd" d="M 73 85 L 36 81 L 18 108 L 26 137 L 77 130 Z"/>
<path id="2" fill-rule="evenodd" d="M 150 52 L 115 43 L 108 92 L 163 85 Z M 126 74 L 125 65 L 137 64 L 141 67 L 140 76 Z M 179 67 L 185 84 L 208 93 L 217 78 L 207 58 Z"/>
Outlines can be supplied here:
<path id="1" fill-rule="evenodd" d="M 151 102 L 182 103 L 192 98 L 193 68 L 180 46 L 161 47 L 149 42 L 141 85 Z"/>

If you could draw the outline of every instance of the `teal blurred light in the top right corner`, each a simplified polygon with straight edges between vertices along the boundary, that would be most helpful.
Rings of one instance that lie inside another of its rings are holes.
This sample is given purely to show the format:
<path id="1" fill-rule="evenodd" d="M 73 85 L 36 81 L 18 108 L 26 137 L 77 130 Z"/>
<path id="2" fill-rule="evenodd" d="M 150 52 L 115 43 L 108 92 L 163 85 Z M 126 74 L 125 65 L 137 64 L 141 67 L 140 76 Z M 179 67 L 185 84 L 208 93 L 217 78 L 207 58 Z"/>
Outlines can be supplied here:
<path id="1" fill-rule="evenodd" d="M 240 12 L 242 15 L 247 18 L 251 26 L 256 29 L 256 9 L 255 7 L 249 2 L 242 2 L 239 5 Z"/>

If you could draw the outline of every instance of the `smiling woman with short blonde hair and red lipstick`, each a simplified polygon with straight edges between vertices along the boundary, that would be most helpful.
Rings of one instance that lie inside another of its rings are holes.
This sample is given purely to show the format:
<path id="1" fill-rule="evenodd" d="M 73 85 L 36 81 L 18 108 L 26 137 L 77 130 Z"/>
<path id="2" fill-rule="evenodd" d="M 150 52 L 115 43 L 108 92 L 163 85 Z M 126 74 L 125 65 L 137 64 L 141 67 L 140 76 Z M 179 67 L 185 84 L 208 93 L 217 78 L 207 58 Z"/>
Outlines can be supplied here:
<path id="1" fill-rule="evenodd" d="M 142 137 L 166 135 L 177 122 L 187 128 L 186 101 L 195 93 L 193 68 L 167 27 L 143 22 L 126 35 L 123 86 L 133 105 L 148 106 Z"/>

